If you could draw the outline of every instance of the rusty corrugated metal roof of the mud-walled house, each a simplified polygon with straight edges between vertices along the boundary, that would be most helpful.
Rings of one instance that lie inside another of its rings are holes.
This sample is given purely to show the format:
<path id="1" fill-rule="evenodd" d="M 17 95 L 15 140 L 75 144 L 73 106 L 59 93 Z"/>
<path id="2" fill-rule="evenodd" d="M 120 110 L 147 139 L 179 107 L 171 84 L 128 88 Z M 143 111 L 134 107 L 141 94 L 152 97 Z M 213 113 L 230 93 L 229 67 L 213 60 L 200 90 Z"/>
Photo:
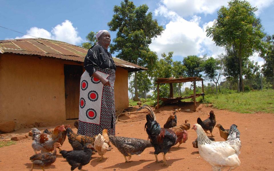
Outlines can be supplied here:
<path id="1" fill-rule="evenodd" d="M 13 40 L 0 40 L 0 53 L 13 53 L 23 55 L 45 56 L 84 62 L 88 49 L 45 38 L 25 38 Z M 129 72 L 147 70 L 142 66 L 113 57 L 116 66 Z"/>

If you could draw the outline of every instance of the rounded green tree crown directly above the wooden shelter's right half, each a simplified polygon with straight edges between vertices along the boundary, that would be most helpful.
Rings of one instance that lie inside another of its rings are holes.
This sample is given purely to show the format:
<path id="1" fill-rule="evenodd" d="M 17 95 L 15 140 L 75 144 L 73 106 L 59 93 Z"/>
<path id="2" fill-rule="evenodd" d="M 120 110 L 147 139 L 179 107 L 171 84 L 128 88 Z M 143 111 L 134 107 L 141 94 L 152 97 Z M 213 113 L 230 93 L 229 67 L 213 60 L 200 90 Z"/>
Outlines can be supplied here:
<path id="1" fill-rule="evenodd" d="M 188 56 L 184 58 L 183 64 L 186 66 L 186 74 L 188 77 L 202 77 L 202 58 L 199 58 L 196 55 Z"/>

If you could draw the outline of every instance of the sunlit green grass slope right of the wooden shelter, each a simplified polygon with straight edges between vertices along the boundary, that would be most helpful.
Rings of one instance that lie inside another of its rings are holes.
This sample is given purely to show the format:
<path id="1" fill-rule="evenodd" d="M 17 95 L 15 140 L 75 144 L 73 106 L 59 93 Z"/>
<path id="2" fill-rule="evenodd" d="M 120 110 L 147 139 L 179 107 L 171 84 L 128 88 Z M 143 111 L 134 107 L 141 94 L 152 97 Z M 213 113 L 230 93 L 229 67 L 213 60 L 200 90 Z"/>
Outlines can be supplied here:
<path id="1" fill-rule="evenodd" d="M 206 95 L 206 103 L 217 109 L 239 113 L 274 113 L 274 90 L 249 91 L 244 93 Z"/>

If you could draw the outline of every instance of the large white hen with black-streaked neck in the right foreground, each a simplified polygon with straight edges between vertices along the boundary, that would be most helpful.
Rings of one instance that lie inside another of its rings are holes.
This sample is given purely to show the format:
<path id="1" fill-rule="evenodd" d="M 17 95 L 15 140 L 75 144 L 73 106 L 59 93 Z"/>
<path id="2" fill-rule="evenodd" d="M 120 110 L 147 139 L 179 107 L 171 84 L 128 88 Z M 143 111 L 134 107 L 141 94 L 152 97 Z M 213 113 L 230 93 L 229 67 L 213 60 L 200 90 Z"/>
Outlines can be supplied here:
<path id="1" fill-rule="evenodd" d="M 221 171 L 223 167 L 233 170 L 241 164 L 239 150 L 241 149 L 240 132 L 237 125 L 231 125 L 227 141 L 211 141 L 199 124 L 193 128 L 197 133 L 199 153 L 211 166 L 213 171 Z"/>

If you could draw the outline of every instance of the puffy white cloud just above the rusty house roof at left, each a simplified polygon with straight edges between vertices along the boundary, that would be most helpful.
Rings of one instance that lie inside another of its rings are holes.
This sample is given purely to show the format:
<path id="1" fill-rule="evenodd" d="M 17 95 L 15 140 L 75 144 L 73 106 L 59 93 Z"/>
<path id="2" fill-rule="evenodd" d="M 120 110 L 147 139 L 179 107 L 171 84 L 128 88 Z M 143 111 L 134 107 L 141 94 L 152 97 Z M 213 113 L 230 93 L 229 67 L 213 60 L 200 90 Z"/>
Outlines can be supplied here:
<path id="1" fill-rule="evenodd" d="M 69 20 L 65 20 L 61 25 L 57 25 L 52 28 L 51 32 L 45 30 L 44 28 L 31 27 L 27 30 L 27 34 L 21 37 L 15 37 L 15 39 L 20 38 L 33 38 L 32 36 L 39 38 L 47 38 L 53 40 L 59 40 L 67 42 L 70 44 L 78 44 L 82 42 L 82 38 L 78 36 L 77 28 L 72 26 L 72 23 Z"/>

